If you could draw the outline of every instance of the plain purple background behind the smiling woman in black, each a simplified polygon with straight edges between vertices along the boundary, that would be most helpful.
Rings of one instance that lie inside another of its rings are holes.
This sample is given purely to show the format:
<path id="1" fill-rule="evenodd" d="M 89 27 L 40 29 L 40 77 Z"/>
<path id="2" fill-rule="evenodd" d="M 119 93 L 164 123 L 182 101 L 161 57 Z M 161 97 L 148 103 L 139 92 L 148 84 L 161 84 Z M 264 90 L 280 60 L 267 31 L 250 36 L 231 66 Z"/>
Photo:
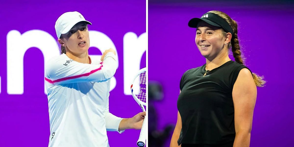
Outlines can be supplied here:
<path id="1" fill-rule="evenodd" d="M 163 100 L 155 103 L 158 128 L 176 124 L 183 73 L 205 64 L 195 44 L 196 29 L 189 28 L 188 21 L 219 10 L 238 21 L 245 65 L 267 81 L 257 88 L 250 146 L 293 146 L 293 6 L 287 1 L 149 1 L 149 81 L 159 81 L 164 91 Z"/>

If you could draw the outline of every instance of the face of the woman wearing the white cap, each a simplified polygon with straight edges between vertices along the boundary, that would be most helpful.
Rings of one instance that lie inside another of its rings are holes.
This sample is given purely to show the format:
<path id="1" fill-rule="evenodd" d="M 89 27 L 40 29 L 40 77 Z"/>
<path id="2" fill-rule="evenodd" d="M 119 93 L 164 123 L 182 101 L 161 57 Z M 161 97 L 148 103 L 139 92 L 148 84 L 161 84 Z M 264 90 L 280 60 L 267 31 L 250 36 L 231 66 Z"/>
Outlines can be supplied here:
<path id="1" fill-rule="evenodd" d="M 87 24 L 81 21 L 74 25 L 69 32 L 62 34 L 60 43 L 74 54 L 82 54 L 87 51 L 90 46 Z"/>

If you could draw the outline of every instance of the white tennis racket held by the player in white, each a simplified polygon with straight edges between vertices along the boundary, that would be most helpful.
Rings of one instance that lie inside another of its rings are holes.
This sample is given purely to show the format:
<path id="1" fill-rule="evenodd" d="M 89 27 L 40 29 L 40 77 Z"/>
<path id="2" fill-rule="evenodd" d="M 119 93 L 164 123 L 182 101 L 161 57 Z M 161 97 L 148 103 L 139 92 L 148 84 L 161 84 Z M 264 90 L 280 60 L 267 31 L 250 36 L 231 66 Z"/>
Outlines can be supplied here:
<path id="1" fill-rule="evenodd" d="M 135 75 L 133 83 L 131 85 L 131 91 L 133 98 L 139 104 L 142 111 L 145 111 L 144 106 L 146 106 L 146 67 L 140 69 L 138 73 Z M 137 141 L 137 146 L 144 147 L 146 145 L 146 130 L 147 130 L 147 115 L 145 116 L 140 132 L 139 139 Z"/>

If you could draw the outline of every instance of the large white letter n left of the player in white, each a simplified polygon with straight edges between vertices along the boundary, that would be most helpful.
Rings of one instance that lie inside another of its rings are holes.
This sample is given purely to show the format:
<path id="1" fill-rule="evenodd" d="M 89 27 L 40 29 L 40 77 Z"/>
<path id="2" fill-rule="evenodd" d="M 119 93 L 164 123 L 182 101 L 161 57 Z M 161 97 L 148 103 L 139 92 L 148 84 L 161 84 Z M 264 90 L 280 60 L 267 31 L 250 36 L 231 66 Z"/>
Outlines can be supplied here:
<path id="1" fill-rule="evenodd" d="M 24 93 L 24 54 L 31 47 L 36 47 L 43 53 L 44 67 L 48 59 L 59 55 L 56 40 L 45 31 L 30 30 L 24 34 L 16 30 L 9 31 L 7 34 L 8 94 Z M 46 93 L 45 85 L 44 92 Z"/>

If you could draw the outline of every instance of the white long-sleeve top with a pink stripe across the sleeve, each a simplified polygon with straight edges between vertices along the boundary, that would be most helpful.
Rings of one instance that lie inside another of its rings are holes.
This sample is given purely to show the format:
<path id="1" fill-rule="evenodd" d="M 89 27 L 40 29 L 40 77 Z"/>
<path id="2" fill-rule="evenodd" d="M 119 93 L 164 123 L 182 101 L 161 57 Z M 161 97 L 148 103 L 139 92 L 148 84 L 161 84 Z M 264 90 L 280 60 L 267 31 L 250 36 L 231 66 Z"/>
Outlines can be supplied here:
<path id="1" fill-rule="evenodd" d="M 116 60 L 109 52 L 103 62 L 90 59 L 90 64 L 66 54 L 48 61 L 49 147 L 109 146 L 106 131 L 118 131 L 123 119 L 109 113 L 108 107 L 109 79 L 116 72 Z"/>

